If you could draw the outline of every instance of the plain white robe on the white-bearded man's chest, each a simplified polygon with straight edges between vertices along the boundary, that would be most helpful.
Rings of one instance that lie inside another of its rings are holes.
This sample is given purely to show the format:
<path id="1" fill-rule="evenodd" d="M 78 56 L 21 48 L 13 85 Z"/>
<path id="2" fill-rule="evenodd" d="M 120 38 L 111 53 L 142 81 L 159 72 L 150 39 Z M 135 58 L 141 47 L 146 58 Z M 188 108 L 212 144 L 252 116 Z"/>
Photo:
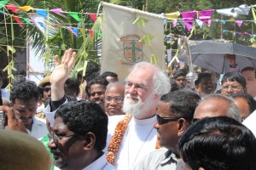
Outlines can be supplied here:
<path id="1" fill-rule="evenodd" d="M 131 118 L 115 157 L 114 166 L 117 169 L 130 169 L 143 156 L 155 150 L 157 131 L 154 129 L 154 122 L 156 122 L 156 116 L 144 120 Z"/>

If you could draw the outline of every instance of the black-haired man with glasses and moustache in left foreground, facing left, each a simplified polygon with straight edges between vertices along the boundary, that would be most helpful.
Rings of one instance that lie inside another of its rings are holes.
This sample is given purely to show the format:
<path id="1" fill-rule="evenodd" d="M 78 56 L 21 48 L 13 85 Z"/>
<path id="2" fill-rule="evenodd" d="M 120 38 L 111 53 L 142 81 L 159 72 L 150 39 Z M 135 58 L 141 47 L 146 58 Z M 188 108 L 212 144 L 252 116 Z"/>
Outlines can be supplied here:
<path id="1" fill-rule="evenodd" d="M 102 151 L 107 134 L 108 116 L 100 105 L 83 100 L 62 105 L 49 133 L 55 169 L 114 169 Z"/>

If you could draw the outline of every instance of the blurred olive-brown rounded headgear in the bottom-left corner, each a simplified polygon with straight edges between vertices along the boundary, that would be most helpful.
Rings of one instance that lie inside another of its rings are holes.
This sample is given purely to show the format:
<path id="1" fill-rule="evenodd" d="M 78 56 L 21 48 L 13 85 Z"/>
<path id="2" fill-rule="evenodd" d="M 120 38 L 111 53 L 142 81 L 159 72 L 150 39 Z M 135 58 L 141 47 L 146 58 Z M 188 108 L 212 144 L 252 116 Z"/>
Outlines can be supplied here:
<path id="1" fill-rule="evenodd" d="M 26 133 L 0 130 L 0 141 L 0 169 L 50 169 L 49 152 L 38 139 Z"/>

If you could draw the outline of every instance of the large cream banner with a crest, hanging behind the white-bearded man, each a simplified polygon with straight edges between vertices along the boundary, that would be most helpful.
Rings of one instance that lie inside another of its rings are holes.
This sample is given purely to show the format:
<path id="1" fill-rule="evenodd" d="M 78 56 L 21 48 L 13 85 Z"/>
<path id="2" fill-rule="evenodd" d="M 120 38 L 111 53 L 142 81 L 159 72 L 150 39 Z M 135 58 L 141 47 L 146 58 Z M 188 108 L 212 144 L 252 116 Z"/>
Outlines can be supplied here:
<path id="1" fill-rule="evenodd" d="M 124 81 L 132 65 L 141 61 L 150 62 L 152 56 L 164 70 L 164 18 L 111 3 L 102 3 L 102 6 L 102 72 L 113 71 L 119 75 L 119 80 Z M 133 25 L 138 17 L 142 25 L 144 21 L 144 27 Z M 150 45 L 139 42 L 142 37 Z"/>

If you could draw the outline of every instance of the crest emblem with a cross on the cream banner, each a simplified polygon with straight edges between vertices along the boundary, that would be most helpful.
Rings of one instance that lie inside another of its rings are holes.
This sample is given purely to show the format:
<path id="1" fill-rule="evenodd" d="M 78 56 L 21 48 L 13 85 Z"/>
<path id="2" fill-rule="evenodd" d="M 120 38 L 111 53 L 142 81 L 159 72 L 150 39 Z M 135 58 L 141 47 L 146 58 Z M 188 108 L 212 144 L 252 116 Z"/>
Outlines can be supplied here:
<path id="1" fill-rule="evenodd" d="M 143 42 L 139 42 L 140 39 L 136 34 L 120 37 L 125 57 L 125 60 L 121 61 L 123 64 L 133 65 L 143 60 Z"/>

